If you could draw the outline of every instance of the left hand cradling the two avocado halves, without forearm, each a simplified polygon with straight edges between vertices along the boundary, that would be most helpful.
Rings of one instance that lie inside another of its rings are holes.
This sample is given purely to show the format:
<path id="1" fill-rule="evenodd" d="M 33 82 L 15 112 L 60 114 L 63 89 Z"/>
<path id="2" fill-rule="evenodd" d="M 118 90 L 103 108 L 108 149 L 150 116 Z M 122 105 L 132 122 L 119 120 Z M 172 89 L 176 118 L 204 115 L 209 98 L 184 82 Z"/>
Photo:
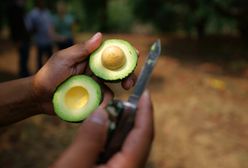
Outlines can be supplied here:
<path id="1" fill-rule="evenodd" d="M 42 113 L 53 114 L 51 97 L 56 87 L 72 75 L 89 73 L 87 57 L 96 50 L 102 41 L 102 34 L 96 33 L 85 43 L 79 43 L 67 49 L 58 51 L 53 54 L 47 63 L 33 77 L 33 91 Z M 135 75 L 130 75 L 122 81 L 122 86 L 129 89 L 133 86 Z M 98 82 L 100 82 L 98 80 Z M 106 103 L 112 98 L 113 93 L 103 83 L 104 101 Z"/>

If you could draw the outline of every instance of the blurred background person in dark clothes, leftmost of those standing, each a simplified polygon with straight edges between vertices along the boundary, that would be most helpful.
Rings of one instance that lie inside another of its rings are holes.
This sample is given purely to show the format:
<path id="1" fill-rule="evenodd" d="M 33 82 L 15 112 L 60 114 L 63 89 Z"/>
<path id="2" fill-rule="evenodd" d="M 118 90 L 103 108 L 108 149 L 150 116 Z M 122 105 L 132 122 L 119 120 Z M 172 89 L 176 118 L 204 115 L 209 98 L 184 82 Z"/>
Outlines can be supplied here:
<path id="1" fill-rule="evenodd" d="M 8 6 L 8 22 L 12 41 L 18 49 L 19 76 L 29 76 L 28 60 L 30 34 L 26 25 L 25 0 L 11 0 Z"/>

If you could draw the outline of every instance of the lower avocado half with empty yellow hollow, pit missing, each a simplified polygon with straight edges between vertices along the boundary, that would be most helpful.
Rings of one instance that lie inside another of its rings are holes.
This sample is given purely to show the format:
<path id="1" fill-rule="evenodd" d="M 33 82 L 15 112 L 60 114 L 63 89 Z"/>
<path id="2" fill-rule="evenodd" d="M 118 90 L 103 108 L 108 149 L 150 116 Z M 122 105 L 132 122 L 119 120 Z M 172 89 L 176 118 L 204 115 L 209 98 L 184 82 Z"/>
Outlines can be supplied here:
<path id="1" fill-rule="evenodd" d="M 80 122 L 98 107 L 101 99 L 96 81 L 86 75 L 75 75 L 58 86 L 53 95 L 53 107 L 62 120 Z"/>

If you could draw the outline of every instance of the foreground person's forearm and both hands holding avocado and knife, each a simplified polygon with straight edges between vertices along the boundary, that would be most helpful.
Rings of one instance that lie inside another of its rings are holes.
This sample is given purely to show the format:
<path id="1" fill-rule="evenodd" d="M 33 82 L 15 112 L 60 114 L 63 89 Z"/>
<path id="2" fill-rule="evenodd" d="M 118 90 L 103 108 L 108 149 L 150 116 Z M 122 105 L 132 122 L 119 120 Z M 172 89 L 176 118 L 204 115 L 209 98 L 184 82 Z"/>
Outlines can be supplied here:
<path id="1" fill-rule="evenodd" d="M 85 43 L 75 44 L 55 53 L 34 76 L 0 83 L 0 126 L 37 114 L 54 115 L 51 99 L 56 87 L 71 75 L 87 73 L 87 57 L 101 42 L 102 34 L 96 33 Z M 133 74 L 121 81 L 124 89 L 130 89 L 134 83 Z M 106 163 L 98 165 L 97 160 L 108 132 L 108 116 L 104 107 L 113 98 L 112 91 L 101 81 L 99 84 L 104 95 L 102 104 L 80 125 L 71 145 L 51 167 L 144 167 L 154 137 L 153 108 L 149 93 L 146 91 L 139 101 L 134 127 L 121 150 Z"/>

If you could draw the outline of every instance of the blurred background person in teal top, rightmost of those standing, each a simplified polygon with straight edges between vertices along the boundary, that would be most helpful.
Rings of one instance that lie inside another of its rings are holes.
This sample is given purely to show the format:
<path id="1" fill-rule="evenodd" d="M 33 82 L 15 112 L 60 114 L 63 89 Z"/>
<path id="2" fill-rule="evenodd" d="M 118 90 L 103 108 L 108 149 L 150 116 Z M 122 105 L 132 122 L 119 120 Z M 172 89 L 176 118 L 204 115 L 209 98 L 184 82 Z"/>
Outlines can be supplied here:
<path id="1" fill-rule="evenodd" d="M 64 1 L 57 3 L 57 14 L 54 15 L 54 28 L 57 34 L 64 36 L 65 40 L 57 42 L 58 49 L 65 49 L 73 45 L 73 16 L 68 12 L 68 6 Z"/>

